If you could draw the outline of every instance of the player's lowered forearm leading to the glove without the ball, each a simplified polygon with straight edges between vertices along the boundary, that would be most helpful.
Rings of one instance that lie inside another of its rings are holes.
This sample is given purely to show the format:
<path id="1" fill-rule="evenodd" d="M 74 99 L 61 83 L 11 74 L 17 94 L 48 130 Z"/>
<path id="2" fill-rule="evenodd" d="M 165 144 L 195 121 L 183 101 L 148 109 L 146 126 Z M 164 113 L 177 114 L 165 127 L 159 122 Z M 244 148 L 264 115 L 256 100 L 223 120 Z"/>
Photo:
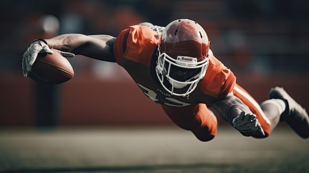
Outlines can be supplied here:
<path id="1" fill-rule="evenodd" d="M 218 111 L 220 116 L 232 124 L 235 117 L 240 115 L 242 111 L 245 114 L 253 114 L 247 105 L 245 105 L 239 98 L 230 93 L 224 99 L 211 104 L 213 108 Z"/>

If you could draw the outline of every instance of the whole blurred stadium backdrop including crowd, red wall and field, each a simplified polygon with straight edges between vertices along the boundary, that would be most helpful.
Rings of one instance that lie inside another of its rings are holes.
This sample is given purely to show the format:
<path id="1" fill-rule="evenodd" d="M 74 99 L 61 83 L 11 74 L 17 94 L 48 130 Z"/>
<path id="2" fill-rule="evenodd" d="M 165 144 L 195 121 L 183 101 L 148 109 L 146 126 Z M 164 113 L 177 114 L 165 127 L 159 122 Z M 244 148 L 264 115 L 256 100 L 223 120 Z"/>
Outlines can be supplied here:
<path id="1" fill-rule="evenodd" d="M 305 0 L 1 0 L 0 172 L 308 173 L 308 140 L 284 123 L 258 140 L 218 117 L 217 137 L 200 142 L 116 64 L 77 55 L 75 77 L 57 86 L 21 69 L 36 38 L 117 36 L 141 22 L 189 18 L 259 103 L 278 85 L 309 108 L 308 9 Z"/>

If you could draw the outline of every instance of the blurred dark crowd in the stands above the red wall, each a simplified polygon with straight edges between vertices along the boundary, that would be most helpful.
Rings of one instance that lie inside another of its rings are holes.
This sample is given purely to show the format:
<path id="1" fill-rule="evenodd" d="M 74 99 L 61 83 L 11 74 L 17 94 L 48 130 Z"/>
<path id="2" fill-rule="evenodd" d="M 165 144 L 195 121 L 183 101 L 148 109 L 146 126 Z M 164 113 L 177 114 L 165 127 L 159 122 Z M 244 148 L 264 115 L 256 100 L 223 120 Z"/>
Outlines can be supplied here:
<path id="1" fill-rule="evenodd" d="M 21 71 L 22 54 L 36 38 L 66 33 L 117 36 L 141 22 L 165 26 L 189 18 L 205 29 L 216 57 L 235 72 L 308 75 L 308 4 L 304 0 L 1 0 L 0 70 Z M 106 65 L 85 58 L 72 61 L 75 70 Z"/>

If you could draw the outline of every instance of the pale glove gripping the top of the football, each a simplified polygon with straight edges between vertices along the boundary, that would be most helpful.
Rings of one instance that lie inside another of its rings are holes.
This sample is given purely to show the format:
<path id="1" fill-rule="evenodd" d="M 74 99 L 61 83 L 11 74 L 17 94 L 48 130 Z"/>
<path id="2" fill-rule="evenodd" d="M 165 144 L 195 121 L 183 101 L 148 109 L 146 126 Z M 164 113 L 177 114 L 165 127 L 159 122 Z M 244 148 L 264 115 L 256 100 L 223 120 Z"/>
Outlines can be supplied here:
<path id="1" fill-rule="evenodd" d="M 58 51 L 64 57 L 75 56 L 73 53 L 70 52 L 62 52 L 60 50 L 56 51 Z M 36 61 L 39 53 L 53 54 L 53 51 L 48 47 L 48 45 L 44 42 L 44 40 L 37 39 L 32 41 L 22 58 L 22 68 L 25 77 L 27 77 L 28 73 L 31 71 L 31 67 L 33 63 Z"/>

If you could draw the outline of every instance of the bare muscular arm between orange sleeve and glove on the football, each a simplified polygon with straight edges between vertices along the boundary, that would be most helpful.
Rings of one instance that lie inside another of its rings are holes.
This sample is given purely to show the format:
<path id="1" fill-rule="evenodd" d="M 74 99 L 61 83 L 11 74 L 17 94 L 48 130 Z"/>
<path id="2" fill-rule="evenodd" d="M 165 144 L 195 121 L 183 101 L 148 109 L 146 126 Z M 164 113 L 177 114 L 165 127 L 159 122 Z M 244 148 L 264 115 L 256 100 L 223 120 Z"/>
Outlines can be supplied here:
<path id="1" fill-rule="evenodd" d="M 116 62 L 113 51 L 115 39 L 116 37 L 111 35 L 64 34 L 45 41 L 50 48 L 102 61 Z"/>

